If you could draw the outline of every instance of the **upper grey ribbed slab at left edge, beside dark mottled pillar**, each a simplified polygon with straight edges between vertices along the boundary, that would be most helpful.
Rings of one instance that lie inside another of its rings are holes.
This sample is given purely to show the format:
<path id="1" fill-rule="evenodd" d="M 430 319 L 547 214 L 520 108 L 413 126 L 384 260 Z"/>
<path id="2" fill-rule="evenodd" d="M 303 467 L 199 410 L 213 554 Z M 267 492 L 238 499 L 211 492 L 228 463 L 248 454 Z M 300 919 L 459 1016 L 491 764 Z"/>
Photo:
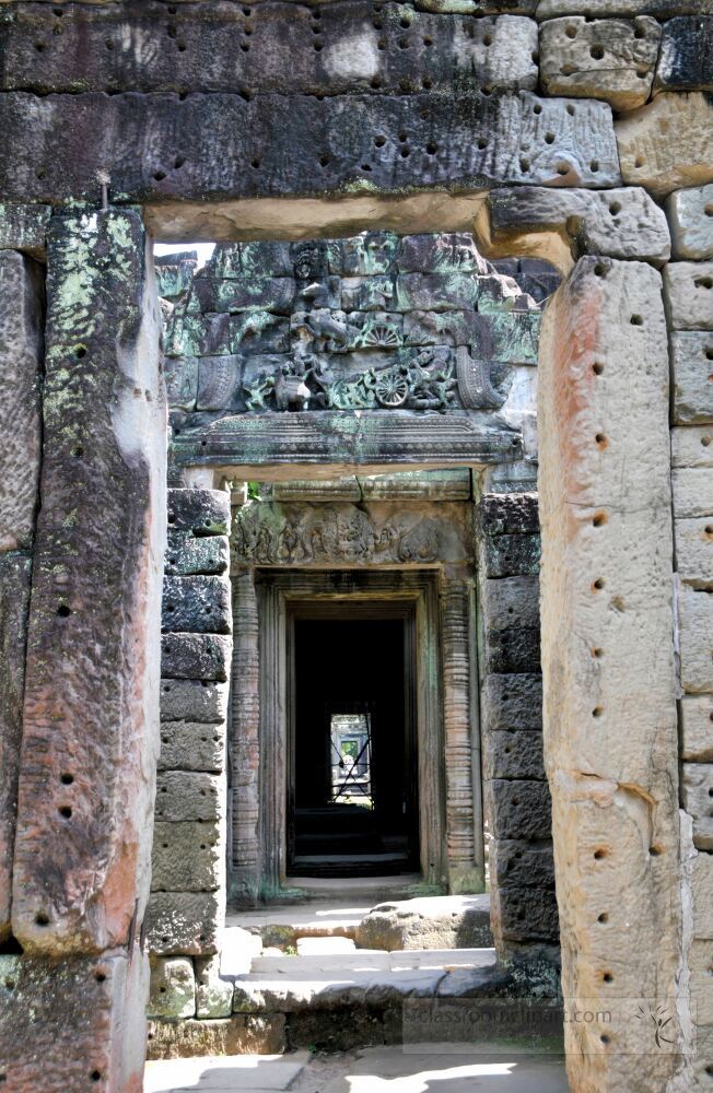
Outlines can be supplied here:
<path id="1" fill-rule="evenodd" d="M 2 220 L 0 219 L 0 228 Z M 42 447 L 43 306 L 39 267 L 0 250 L 0 550 L 27 549 L 35 531 Z"/>

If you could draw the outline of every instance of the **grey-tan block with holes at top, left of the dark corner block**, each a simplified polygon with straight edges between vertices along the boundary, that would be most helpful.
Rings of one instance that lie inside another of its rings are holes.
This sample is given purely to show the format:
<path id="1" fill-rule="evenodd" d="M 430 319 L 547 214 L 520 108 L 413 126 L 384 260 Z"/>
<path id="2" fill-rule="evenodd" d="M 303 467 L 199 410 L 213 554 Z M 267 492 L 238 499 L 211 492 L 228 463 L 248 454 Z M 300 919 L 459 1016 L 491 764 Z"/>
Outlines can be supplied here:
<path id="1" fill-rule="evenodd" d="M 648 98 L 661 26 L 641 15 L 592 20 L 584 15 L 540 24 L 540 77 L 552 95 L 604 98 L 632 110 Z"/>

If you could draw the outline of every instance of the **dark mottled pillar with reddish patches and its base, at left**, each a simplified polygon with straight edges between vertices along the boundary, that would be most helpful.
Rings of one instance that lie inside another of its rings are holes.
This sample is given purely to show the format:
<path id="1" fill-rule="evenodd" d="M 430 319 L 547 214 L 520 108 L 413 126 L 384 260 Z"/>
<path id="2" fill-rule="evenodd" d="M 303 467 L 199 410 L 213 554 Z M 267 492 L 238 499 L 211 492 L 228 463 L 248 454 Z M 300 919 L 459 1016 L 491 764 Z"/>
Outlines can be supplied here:
<path id="1" fill-rule="evenodd" d="M 142 1084 L 166 437 L 147 256 L 133 211 L 50 224 L 13 875 L 24 955 L 5 957 L 0 1015 L 23 1093 Z"/>

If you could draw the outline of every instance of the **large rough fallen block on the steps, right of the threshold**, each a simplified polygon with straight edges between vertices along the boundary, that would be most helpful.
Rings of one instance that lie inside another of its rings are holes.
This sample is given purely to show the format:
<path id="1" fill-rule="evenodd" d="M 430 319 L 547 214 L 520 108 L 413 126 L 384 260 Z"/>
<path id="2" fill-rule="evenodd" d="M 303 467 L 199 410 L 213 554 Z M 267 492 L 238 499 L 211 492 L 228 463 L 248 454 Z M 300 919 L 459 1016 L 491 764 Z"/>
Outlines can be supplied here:
<path id="1" fill-rule="evenodd" d="M 487 895 L 381 903 L 356 928 L 360 949 L 478 949 L 492 944 Z"/>

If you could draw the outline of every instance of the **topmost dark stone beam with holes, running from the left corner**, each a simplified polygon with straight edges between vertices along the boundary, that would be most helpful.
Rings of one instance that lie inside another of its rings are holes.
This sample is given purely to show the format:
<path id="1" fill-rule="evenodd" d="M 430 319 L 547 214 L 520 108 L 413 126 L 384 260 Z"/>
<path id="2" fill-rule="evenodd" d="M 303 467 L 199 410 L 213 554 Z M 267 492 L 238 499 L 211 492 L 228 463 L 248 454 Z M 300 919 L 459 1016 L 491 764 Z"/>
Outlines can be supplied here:
<path id="1" fill-rule="evenodd" d="M 474 5 L 474 12 L 482 14 L 483 5 Z M 1 87 L 72 91 L 79 83 L 85 91 L 245 87 L 258 94 L 338 95 L 537 86 L 537 25 L 511 14 L 476 23 L 463 9 L 434 17 L 386 3 L 374 19 L 367 0 L 322 4 L 318 23 L 308 4 L 295 3 L 255 4 L 246 15 L 219 2 L 210 19 L 202 4 L 182 3 L 172 14 L 173 42 L 148 49 L 137 63 L 121 46 L 165 35 L 161 3 L 70 5 L 61 48 L 52 37 L 51 8 L 22 7 L 16 20 L 0 28 Z"/>

